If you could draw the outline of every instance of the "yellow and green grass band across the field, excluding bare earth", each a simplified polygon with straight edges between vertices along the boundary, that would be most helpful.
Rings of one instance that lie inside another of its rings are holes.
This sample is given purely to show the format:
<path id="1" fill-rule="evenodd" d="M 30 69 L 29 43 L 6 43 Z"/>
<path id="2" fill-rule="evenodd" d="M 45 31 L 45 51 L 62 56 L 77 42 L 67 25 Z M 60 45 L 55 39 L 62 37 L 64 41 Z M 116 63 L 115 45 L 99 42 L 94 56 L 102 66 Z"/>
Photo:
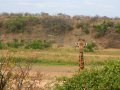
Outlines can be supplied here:
<path id="1" fill-rule="evenodd" d="M 74 48 L 50 48 L 45 50 L 1 50 L 0 58 L 25 63 L 30 61 L 35 65 L 69 65 L 77 66 L 79 50 Z M 102 65 L 106 60 L 120 60 L 119 49 L 96 50 L 84 52 L 85 65 Z"/>

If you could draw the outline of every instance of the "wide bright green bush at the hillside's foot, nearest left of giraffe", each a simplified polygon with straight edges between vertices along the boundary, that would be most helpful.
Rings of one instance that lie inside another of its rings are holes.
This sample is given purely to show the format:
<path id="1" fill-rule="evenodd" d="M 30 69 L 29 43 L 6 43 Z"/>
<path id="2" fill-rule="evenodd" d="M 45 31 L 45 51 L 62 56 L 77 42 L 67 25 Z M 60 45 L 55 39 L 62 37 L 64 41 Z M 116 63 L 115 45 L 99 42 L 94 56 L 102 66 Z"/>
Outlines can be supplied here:
<path id="1" fill-rule="evenodd" d="M 29 42 L 26 45 L 26 49 L 44 49 L 44 48 L 48 48 L 51 46 L 50 42 L 47 41 L 41 41 L 41 40 L 33 40 L 31 42 Z"/>

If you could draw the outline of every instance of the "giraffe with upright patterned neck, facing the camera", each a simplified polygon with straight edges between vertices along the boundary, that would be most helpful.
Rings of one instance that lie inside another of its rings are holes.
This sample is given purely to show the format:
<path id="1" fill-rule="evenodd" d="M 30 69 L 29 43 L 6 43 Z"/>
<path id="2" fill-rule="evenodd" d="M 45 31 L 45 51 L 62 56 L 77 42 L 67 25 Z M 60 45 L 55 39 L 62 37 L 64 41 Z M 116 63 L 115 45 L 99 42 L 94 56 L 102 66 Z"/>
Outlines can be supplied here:
<path id="1" fill-rule="evenodd" d="M 79 39 L 77 46 L 79 47 L 79 71 L 84 69 L 83 49 L 87 44 L 84 39 Z"/>

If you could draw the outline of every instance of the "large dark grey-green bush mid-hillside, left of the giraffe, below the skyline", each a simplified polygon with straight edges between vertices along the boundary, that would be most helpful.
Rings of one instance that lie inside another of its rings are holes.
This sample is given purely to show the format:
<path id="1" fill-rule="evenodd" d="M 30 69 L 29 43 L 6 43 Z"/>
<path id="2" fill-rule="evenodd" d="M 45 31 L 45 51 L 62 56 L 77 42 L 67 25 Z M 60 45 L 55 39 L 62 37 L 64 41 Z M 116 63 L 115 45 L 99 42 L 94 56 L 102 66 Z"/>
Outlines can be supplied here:
<path id="1" fill-rule="evenodd" d="M 72 30 L 73 25 L 70 20 L 59 17 L 48 17 L 41 19 L 41 25 L 48 30 L 48 32 L 64 33 L 65 30 Z"/>

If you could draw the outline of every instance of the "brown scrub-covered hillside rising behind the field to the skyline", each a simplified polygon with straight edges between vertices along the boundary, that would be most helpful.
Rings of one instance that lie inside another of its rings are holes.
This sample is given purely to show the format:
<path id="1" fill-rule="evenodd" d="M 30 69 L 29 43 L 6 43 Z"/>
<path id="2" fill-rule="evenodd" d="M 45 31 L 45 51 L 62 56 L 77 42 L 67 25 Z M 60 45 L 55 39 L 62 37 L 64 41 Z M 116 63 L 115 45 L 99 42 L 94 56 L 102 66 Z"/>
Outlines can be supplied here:
<path id="1" fill-rule="evenodd" d="M 1 42 L 46 40 L 53 46 L 74 46 L 78 38 L 102 48 L 120 48 L 120 18 L 69 16 L 48 13 L 3 13 L 0 15 Z"/>

